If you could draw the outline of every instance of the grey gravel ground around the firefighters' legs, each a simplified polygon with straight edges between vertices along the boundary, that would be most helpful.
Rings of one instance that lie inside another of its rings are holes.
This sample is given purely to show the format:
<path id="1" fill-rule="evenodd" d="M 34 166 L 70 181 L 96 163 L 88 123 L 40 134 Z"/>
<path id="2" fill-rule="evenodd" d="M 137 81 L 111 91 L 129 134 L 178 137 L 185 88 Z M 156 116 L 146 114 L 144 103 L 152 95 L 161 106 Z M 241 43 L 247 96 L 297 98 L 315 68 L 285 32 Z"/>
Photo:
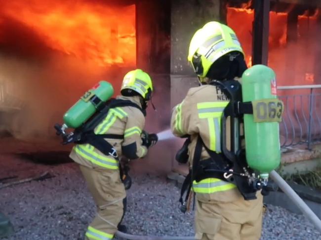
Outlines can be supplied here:
<path id="1" fill-rule="evenodd" d="M 49 171 L 55 177 L 0 189 L 0 211 L 15 229 L 5 240 L 82 240 L 95 206 L 78 166 L 28 164 L 33 172 Z M 1 168 L 0 176 L 8 172 Z M 193 235 L 194 214 L 179 211 L 179 189 L 172 182 L 149 175 L 133 180 L 124 218 L 130 233 Z M 321 235 L 304 216 L 268 206 L 261 240 L 321 240 Z"/>

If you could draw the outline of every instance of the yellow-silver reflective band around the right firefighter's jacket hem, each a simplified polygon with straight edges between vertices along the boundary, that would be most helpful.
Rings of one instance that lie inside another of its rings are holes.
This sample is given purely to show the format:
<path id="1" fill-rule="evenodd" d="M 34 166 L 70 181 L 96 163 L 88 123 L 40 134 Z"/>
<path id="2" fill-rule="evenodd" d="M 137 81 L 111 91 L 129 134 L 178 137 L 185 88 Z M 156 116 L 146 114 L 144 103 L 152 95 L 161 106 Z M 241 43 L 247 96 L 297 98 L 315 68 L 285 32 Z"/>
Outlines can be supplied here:
<path id="1" fill-rule="evenodd" d="M 193 191 L 195 193 L 216 193 L 228 191 L 236 188 L 236 185 L 219 178 L 206 178 L 199 182 L 193 181 Z"/>

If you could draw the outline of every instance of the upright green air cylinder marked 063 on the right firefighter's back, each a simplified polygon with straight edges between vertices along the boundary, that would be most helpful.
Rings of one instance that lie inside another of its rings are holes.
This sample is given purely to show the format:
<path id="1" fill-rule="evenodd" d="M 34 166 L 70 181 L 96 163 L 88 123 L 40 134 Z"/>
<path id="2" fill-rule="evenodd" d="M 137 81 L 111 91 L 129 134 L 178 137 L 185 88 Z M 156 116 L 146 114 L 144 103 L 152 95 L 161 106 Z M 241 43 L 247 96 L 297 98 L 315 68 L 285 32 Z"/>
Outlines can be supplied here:
<path id="1" fill-rule="evenodd" d="M 244 71 L 242 99 L 253 106 L 253 114 L 244 114 L 246 161 L 266 179 L 281 162 L 279 122 L 283 103 L 277 98 L 274 71 L 264 65 Z"/>

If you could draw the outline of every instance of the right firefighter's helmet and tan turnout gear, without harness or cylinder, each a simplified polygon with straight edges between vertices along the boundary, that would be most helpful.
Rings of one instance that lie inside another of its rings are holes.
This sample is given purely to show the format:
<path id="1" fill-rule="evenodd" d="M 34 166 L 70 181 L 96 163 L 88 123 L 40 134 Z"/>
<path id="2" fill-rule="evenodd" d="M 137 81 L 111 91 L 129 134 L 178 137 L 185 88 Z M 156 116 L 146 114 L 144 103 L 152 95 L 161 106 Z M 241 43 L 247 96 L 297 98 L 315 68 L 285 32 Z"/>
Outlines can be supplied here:
<path id="1" fill-rule="evenodd" d="M 236 34 L 218 22 L 209 22 L 196 32 L 188 60 L 201 86 L 191 88 L 183 102 L 174 107 L 171 129 L 177 137 L 190 136 L 188 162 L 192 168 L 199 136 L 203 142 L 200 163 L 210 158 L 209 152 L 217 157 L 214 161 L 222 161 L 221 118 L 229 98 L 211 83 L 241 77 L 246 64 Z M 196 193 L 196 240 L 260 239 L 260 192 L 257 199 L 245 201 L 235 184 L 216 177 L 194 180 L 192 191 Z"/>

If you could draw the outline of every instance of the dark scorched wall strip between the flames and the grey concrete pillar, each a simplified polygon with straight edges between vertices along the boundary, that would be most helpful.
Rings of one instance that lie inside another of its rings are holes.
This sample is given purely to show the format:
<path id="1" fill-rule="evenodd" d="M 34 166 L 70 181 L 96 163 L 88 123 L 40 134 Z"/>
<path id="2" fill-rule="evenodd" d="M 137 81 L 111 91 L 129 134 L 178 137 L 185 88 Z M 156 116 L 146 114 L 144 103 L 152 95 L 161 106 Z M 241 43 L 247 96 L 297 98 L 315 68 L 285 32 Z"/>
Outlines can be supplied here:
<path id="1" fill-rule="evenodd" d="M 170 122 L 170 0 L 136 1 L 137 68 L 153 80 L 152 104 L 147 108 L 145 130 L 158 133 Z M 136 173 L 165 174 L 171 171 L 171 142 L 160 141 L 141 161 L 133 161 Z"/>

